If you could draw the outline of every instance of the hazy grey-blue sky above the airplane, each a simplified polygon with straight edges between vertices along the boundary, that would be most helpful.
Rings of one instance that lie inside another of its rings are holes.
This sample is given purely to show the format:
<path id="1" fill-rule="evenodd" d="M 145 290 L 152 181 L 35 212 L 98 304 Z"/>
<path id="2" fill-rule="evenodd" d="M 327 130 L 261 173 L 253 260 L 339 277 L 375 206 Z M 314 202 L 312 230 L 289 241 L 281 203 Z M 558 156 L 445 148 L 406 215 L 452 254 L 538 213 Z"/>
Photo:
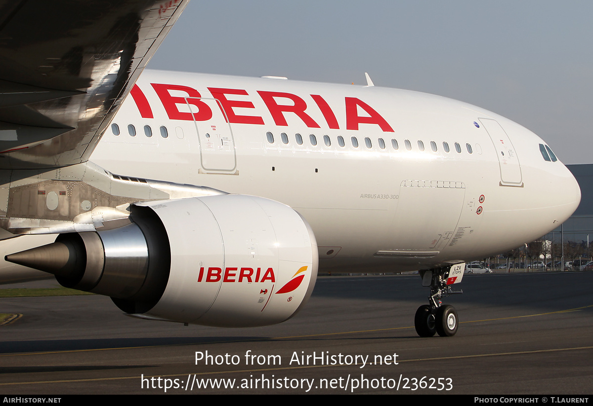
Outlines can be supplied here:
<path id="1" fill-rule="evenodd" d="M 593 163 L 593 2 L 190 1 L 151 69 L 412 89 L 504 115 Z"/>

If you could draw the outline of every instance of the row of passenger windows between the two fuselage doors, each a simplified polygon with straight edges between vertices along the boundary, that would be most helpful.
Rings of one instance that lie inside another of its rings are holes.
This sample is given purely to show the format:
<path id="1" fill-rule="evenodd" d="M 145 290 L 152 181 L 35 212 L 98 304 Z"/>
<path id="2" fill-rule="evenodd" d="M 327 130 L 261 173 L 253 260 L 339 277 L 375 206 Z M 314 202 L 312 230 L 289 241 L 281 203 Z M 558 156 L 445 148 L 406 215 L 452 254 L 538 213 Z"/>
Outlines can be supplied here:
<path id="1" fill-rule="evenodd" d="M 296 133 L 294 138 L 295 138 L 295 142 L 297 143 L 297 145 L 303 144 L 303 138 L 302 138 L 301 134 Z M 268 131 L 266 133 L 266 139 L 267 139 L 267 142 L 270 144 L 275 143 L 274 134 L 270 133 L 270 131 Z M 280 141 L 282 141 L 282 144 L 288 145 L 288 143 L 289 143 L 288 135 L 286 133 L 280 133 Z M 309 142 L 312 146 L 316 146 L 317 145 L 317 136 L 315 136 L 315 134 L 309 134 Z M 364 142 L 365 142 L 366 148 L 372 149 L 373 141 L 371 140 L 371 138 L 365 137 Z M 323 143 L 326 144 L 327 147 L 330 147 L 331 146 L 330 136 L 328 136 L 327 134 L 324 135 Z M 354 147 L 354 148 L 358 148 L 358 146 L 359 146 L 358 138 L 356 138 L 356 137 L 350 137 L 350 143 L 352 144 L 352 147 Z M 344 137 L 337 136 L 337 144 L 342 148 L 345 147 L 346 141 L 344 140 Z M 380 149 L 386 148 L 385 140 L 383 138 L 377 138 L 377 145 L 379 146 Z M 404 140 L 404 146 L 405 146 L 406 150 L 411 151 L 412 150 L 412 141 Z M 420 151 L 425 150 L 424 142 L 422 140 L 417 141 L 417 146 Z M 431 146 L 432 152 L 438 151 L 438 147 L 436 146 L 435 141 L 431 141 L 430 146 Z M 457 151 L 457 153 L 461 153 L 461 145 L 459 143 L 455 143 L 454 147 L 455 147 L 455 151 Z M 396 138 L 391 138 L 391 148 L 393 150 L 398 150 L 400 148 L 399 144 L 397 143 Z M 442 148 L 445 152 L 449 152 L 451 150 L 451 149 L 449 149 L 449 144 L 446 141 L 443 141 Z M 466 143 L 466 149 L 467 149 L 468 153 L 470 153 L 470 154 L 473 153 L 473 149 L 471 148 L 470 144 Z"/>

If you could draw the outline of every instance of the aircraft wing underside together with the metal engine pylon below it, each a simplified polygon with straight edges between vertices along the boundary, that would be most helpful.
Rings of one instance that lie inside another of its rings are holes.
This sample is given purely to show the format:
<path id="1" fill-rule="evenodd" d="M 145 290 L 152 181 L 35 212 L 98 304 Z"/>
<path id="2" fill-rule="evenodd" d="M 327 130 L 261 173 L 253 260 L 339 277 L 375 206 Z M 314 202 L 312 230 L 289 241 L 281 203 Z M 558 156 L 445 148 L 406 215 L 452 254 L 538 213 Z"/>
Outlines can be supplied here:
<path id="1" fill-rule="evenodd" d="M 221 194 L 88 162 L 189 0 L 0 0 L 0 240 L 105 230 L 140 201 Z"/>

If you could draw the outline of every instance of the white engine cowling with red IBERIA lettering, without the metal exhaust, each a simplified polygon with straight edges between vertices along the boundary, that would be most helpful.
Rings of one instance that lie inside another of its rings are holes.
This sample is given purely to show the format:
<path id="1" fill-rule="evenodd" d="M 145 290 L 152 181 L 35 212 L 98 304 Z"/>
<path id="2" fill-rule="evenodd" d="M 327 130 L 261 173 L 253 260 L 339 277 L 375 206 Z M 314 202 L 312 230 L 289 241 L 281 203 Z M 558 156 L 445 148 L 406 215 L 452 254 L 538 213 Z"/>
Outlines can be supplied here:
<path id="1" fill-rule="evenodd" d="M 147 315 L 208 326 L 292 317 L 313 292 L 313 231 L 294 210 L 245 195 L 147 202 L 167 230 L 171 272 Z"/>

